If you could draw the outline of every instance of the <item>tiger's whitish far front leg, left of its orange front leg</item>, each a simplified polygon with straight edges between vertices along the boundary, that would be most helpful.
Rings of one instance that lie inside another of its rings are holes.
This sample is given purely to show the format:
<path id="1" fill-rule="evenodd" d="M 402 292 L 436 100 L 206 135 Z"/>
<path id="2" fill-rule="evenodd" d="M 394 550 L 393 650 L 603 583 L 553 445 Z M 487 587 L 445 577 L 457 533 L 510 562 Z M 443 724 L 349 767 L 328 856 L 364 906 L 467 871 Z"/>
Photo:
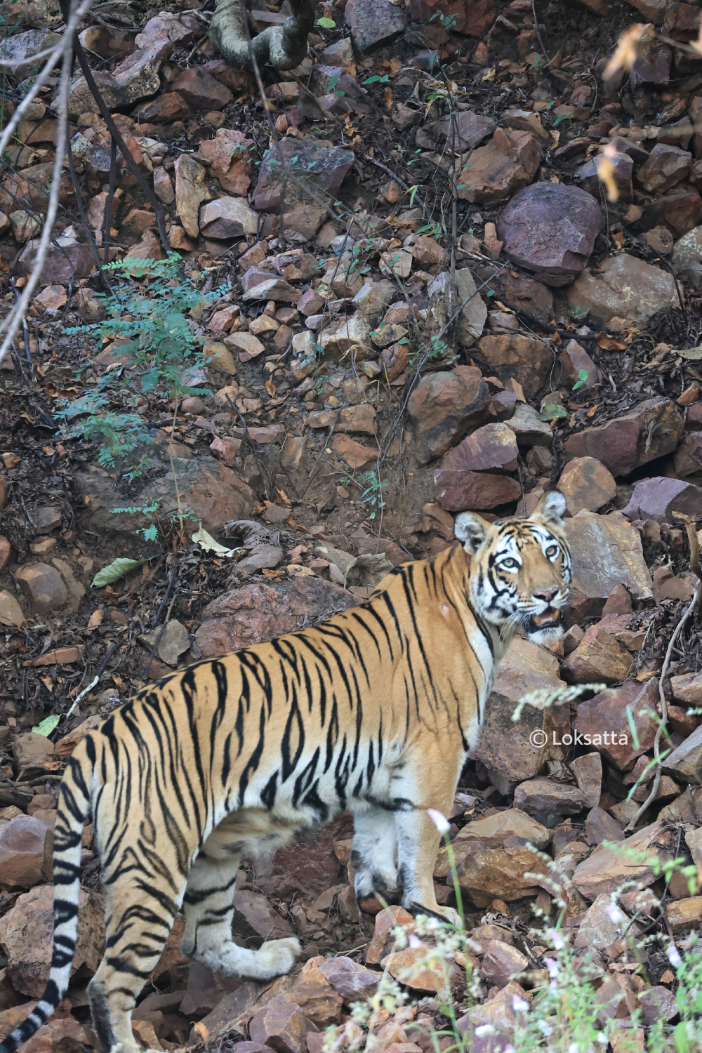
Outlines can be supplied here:
<path id="1" fill-rule="evenodd" d="M 356 871 L 354 883 L 359 903 L 370 896 L 386 903 L 400 902 L 402 886 L 397 859 L 394 813 L 373 807 L 355 813 L 350 862 Z"/>

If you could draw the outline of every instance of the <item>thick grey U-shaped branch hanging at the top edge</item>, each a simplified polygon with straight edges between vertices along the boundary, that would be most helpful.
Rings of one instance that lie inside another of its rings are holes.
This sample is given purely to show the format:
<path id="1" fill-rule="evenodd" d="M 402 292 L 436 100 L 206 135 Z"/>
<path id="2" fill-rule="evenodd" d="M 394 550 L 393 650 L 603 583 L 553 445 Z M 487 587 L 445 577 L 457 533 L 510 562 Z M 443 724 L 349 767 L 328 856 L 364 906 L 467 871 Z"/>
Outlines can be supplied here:
<path id="1" fill-rule="evenodd" d="M 245 0 L 217 0 L 209 39 L 229 65 L 253 69 L 244 25 Z M 256 61 L 276 69 L 293 69 L 307 54 L 307 34 L 315 24 L 315 0 L 290 0 L 293 14 L 282 25 L 272 25 L 252 41 Z"/>

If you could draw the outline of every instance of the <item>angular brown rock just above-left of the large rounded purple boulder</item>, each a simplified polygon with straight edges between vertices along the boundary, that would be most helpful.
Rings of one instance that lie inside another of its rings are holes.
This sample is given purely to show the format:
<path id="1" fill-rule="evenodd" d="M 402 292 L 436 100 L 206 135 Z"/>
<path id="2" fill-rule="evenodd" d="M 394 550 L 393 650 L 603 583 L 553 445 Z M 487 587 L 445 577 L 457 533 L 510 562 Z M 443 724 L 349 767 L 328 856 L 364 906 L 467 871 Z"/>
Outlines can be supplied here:
<path id="1" fill-rule="evenodd" d="M 504 201 L 534 179 L 541 144 L 530 132 L 498 128 L 485 146 L 478 146 L 459 176 L 458 197 L 480 204 Z"/>

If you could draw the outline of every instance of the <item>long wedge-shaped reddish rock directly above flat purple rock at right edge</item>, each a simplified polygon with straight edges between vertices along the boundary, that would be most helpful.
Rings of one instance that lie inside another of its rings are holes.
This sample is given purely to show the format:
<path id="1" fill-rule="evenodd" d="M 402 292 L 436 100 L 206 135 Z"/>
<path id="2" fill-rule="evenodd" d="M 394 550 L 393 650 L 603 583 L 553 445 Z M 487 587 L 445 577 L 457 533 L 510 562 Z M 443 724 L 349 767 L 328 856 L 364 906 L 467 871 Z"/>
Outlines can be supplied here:
<path id="1" fill-rule="evenodd" d="M 623 417 L 568 436 L 565 454 L 595 457 L 614 476 L 628 475 L 649 460 L 673 453 L 683 435 L 683 421 L 666 398 L 640 402 Z"/>

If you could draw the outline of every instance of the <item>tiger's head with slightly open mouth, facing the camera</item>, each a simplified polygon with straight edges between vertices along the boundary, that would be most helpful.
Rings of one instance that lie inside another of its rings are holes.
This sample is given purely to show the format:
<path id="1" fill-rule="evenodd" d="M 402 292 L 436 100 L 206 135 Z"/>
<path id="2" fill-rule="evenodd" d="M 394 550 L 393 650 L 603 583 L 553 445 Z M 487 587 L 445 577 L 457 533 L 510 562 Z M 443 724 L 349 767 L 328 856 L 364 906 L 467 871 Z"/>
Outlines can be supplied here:
<path id="1" fill-rule="evenodd" d="M 456 516 L 456 537 L 472 557 L 473 602 L 503 637 L 510 637 L 519 625 L 535 643 L 562 635 L 561 612 L 571 578 L 564 512 L 563 494 L 551 490 L 528 519 L 488 523 L 473 512 Z"/>

